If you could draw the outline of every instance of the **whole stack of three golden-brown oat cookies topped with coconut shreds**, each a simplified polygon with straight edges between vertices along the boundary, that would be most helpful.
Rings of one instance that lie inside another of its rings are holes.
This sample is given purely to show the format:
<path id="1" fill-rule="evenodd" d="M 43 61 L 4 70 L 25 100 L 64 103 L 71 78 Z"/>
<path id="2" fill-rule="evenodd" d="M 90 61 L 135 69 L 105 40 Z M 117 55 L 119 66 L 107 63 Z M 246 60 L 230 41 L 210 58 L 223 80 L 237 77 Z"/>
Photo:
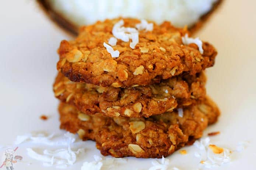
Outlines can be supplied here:
<path id="1" fill-rule="evenodd" d="M 217 121 L 204 70 L 214 47 L 169 22 L 117 18 L 84 26 L 58 53 L 60 128 L 102 155 L 161 158 Z"/>

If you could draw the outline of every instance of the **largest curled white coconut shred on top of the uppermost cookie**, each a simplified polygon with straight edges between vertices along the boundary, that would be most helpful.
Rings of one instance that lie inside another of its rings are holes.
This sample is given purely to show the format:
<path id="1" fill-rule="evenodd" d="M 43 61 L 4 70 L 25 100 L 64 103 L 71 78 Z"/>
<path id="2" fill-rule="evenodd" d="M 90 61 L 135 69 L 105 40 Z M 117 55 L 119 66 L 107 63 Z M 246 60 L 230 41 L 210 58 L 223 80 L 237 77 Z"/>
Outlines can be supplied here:
<path id="1" fill-rule="evenodd" d="M 124 21 L 117 22 L 112 29 L 112 34 L 117 39 L 128 42 L 131 39 L 130 47 L 135 48 L 138 44 L 138 30 L 136 28 L 123 27 Z"/>

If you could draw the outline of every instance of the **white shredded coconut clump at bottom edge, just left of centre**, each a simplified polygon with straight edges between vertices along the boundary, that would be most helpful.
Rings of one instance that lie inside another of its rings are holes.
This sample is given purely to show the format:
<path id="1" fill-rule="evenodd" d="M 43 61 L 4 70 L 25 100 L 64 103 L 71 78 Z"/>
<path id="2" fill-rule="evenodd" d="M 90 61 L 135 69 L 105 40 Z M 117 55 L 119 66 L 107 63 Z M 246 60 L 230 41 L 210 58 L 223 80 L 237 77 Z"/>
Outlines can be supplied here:
<path id="1" fill-rule="evenodd" d="M 94 155 L 93 162 L 84 162 L 81 170 L 101 170 L 102 167 L 111 169 L 118 164 L 127 163 L 126 158 L 106 158 L 102 159 L 98 155 Z"/>

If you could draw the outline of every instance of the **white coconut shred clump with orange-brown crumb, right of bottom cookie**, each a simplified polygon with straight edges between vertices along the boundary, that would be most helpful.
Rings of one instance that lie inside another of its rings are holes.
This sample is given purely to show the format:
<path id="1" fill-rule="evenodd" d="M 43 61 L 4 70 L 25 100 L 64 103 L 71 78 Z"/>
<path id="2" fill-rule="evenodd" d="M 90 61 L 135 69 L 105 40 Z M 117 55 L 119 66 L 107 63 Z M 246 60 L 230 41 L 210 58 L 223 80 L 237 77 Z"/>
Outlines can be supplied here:
<path id="1" fill-rule="evenodd" d="M 195 152 L 194 156 L 200 158 L 200 164 L 203 164 L 206 168 L 219 167 L 222 164 L 231 162 L 231 150 L 211 145 L 209 137 L 195 141 L 194 146 L 199 148 L 202 152 L 201 154 Z M 205 158 L 203 158 L 203 155 Z"/>

